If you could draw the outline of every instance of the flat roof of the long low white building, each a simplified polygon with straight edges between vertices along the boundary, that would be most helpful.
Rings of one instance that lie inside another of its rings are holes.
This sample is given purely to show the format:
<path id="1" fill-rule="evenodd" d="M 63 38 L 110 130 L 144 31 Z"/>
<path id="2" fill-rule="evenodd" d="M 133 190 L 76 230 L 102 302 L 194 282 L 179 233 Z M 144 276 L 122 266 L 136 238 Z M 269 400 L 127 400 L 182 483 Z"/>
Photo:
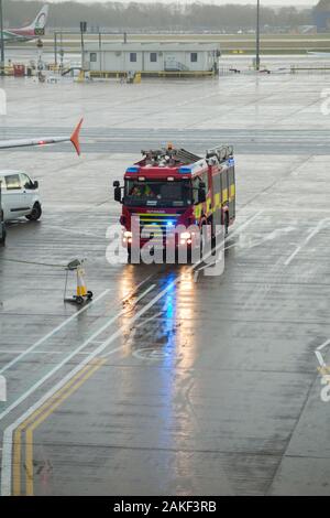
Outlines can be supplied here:
<path id="1" fill-rule="evenodd" d="M 85 43 L 85 51 L 99 51 L 98 43 Z M 187 52 L 209 52 L 220 50 L 218 42 L 208 43 L 196 43 L 196 42 L 116 42 L 116 43 L 102 43 L 101 51 L 113 51 L 113 52 L 163 52 L 163 51 L 187 51 Z"/>

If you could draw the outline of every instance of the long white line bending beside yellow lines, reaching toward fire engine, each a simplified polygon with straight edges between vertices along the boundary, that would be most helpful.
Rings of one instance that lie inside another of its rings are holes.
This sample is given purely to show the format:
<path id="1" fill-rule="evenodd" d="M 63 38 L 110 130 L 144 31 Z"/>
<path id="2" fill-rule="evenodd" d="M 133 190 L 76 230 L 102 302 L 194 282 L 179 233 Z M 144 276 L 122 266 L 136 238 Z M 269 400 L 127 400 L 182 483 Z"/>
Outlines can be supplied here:
<path id="1" fill-rule="evenodd" d="M 11 470 L 12 470 L 12 434 L 14 430 L 29 418 L 36 409 L 38 409 L 44 402 L 46 402 L 54 393 L 57 392 L 62 387 L 65 386 L 77 373 L 81 370 L 89 361 L 95 357 L 100 355 L 112 342 L 114 342 L 124 330 L 130 328 L 134 322 L 136 322 L 144 313 L 146 313 L 151 307 L 153 307 L 160 299 L 162 299 L 174 285 L 179 282 L 179 278 L 170 282 L 163 291 L 161 291 L 156 296 L 154 296 L 145 306 L 142 307 L 132 319 L 127 322 L 120 330 L 113 333 L 108 339 L 106 339 L 102 345 L 100 345 L 94 353 L 87 356 L 80 364 L 78 364 L 70 373 L 68 373 L 61 381 L 58 381 L 48 392 L 45 393 L 37 402 L 30 407 L 19 419 L 16 419 L 10 427 L 8 427 L 3 432 L 3 454 L 1 461 L 1 496 L 9 496 L 11 494 Z M 150 291 L 150 290 L 148 290 Z M 80 346 L 84 348 L 85 344 Z M 114 354 L 123 348 L 123 345 L 112 349 L 107 354 Z M 55 371 L 56 369 L 54 369 Z M 37 388 L 37 387 L 36 387 Z"/>

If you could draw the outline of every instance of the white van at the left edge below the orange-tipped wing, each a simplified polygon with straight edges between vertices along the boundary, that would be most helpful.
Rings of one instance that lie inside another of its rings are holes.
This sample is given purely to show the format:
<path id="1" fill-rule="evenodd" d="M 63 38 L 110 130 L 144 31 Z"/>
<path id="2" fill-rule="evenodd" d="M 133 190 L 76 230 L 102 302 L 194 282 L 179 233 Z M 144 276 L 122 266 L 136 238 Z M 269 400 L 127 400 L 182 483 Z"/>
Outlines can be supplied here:
<path id="1" fill-rule="evenodd" d="M 36 220 L 42 215 L 38 183 L 22 171 L 0 171 L 3 220 L 25 216 Z"/>

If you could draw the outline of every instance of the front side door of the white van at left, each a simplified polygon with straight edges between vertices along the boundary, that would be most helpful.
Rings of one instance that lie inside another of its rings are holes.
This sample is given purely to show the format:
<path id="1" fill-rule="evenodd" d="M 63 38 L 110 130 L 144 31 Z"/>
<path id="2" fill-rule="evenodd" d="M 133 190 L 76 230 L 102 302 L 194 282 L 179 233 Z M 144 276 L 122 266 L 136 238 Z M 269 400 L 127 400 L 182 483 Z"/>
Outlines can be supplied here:
<path id="1" fill-rule="evenodd" d="M 2 194 L 4 220 L 15 219 L 26 214 L 26 202 L 24 202 L 20 173 L 11 173 L 4 176 Z"/>

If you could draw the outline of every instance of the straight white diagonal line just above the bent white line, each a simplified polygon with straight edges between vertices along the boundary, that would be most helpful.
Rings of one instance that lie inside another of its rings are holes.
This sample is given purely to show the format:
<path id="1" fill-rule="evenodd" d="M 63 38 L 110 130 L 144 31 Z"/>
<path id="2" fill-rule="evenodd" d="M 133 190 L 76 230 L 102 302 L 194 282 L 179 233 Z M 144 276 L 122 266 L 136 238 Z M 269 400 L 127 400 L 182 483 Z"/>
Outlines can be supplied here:
<path id="1" fill-rule="evenodd" d="M 155 288 L 155 284 L 152 284 L 147 290 L 145 290 L 135 301 L 135 304 L 143 299 L 151 290 Z M 11 403 L 3 412 L 0 413 L 0 421 L 3 419 L 6 416 L 8 416 L 12 410 L 14 410 L 21 402 L 25 401 L 29 396 L 31 396 L 35 390 L 41 387 L 47 379 L 50 379 L 57 370 L 59 370 L 65 364 L 67 364 L 74 356 L 76 356 L 78 353 L 80 353 L 88 344 L 90 344 L 97 336 L 99 336 L 103 331 L 106 331 L 108 327 L 110 327 L 113 322 L 116 322 L 120 316 L 122 316 L 124 313 L 130 311 L 131 307 L 128 310 L 124 307 L 121 310 L 116 316 L 110 319 L 106 324 L 103 324 L 101 327 L 99 327 L 89 338 L 87 338 L 85 342 L 82 342 L 81 345 L 79 345 L 76 349 L 74 349 L 69 355 L 67 355 L 59 364 L 57 364 L 52 370 L 50 370 L 43 378 L 41 378 L 38 381 L 36 381 L 26 392 L 24 392 L 20 398 L 18 398 L 13 403 Z"/>

